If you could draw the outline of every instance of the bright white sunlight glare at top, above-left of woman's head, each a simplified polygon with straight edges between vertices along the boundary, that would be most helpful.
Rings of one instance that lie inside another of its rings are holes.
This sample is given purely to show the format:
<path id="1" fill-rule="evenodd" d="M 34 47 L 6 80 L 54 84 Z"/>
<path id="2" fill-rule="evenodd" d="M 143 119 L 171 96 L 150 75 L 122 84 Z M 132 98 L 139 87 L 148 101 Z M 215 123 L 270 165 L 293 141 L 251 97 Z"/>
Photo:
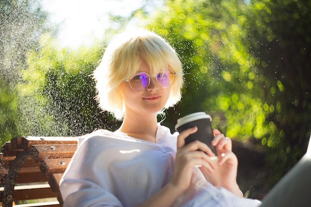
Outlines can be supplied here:
<path id="1" fill-rule="evenodd" d="M 78 48 L 102 38 L 111 26 L 109 13 L 129 16 L 144 0 L 42 0 L 52 24 L 59 25 L 62 47 Z"/>

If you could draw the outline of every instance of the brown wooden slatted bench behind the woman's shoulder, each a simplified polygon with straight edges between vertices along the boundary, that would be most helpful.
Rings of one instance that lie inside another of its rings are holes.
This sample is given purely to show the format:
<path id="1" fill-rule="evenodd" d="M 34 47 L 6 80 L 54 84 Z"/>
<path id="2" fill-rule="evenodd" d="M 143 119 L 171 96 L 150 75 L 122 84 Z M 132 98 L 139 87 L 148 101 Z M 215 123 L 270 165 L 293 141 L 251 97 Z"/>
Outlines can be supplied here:
<path id="1" fill-rule="evenodd" d="M 78 137 L 18 137 L 0 153 L 3 207 L 61 207 L 59 182 L 77 150 Z M 34 201 L 32 201 L 34 200 Z"/>

